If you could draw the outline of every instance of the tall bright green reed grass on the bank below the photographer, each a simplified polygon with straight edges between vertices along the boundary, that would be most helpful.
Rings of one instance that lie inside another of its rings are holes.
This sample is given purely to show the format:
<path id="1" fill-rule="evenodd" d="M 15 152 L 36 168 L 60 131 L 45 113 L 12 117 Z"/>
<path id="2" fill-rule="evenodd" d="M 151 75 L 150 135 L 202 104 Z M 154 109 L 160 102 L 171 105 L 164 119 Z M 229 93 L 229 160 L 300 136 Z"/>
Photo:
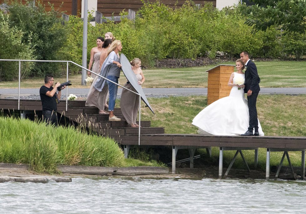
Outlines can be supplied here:
<path id="1" fill-rule="evenodd" d="M 124 154 L 114 140 L 73 127 L 0 117 L 0 139 L 1 162 L 26 163 L 37 172 L 54 173 L 58 164 L 124 165 Z"/>

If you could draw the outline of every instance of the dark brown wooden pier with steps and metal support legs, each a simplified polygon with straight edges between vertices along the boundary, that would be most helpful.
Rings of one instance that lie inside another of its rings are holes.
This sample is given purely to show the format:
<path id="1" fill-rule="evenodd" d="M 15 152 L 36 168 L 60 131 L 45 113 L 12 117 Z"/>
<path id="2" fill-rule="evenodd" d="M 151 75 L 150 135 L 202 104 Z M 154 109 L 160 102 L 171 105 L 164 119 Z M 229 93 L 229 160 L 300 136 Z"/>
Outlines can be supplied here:
<path id="1" fill-rule="evenodd" d="M 0 99 L 0 109 L 18 109 L 18 100 Z M 128 156 L 130 146 L 138 145 L 138 129 L 128 127 L 126 121 L 108 121 L 108 115 L 98 114 L 96 107 L 85 107 L 85 101 L 68 101 L 68 109 L 65 101 L 58 104 L 58 113 L 63 114 L 63 118 L 68 118 L 74 123 L 84 123 L 86 127 L 91 124 L 98 124 L 91 127 L 99 134 L 115 139 L 118 144 L 124 147 L 125 157 Z M 19 110 L 21 116 L 27 118 L 28 115 L 41 112 L 40 100 L 20 100 Z M 114 114 L 123 119 L 120 109 L 115 109 Z M 90 121 L 90 122 L 89 122 Z M 243 150 L 254 150 L 255 167 L 258 162 L 258 148 L 267 149 L 266 179 L 270 178 L 270 152 L 282 151 L 283 158 L 280 160 L 275 179 L 278 177 L 280 168 L 285 157 L 288 159 L 291 173 L 295 178 L 293 167 L 289 158 L 289 151 L 301 151 L 301 174 L 305 176 L 305 149 L 306 137 L 285 137 L 285 136 L 217 136 L 200 134 L 165 134 L 164 127 L 151 127 L 150 121 L 141 121 L 140 146 L 171 146 L 172 147 L 172 173 L 176 171 L 176 154 L 179 149 L 188 149 L 190 154 L 190 168 L 193 168 L 193 157 L 197 148 L 206 148 L 211 155 L 211 147 L 219 147 L 219 178 L 227 176 L 238 153 L 242 160 L 248 164 L 243 157 Z M 232 162 L 223 174 L 223 151 L 236 150 Z"/>

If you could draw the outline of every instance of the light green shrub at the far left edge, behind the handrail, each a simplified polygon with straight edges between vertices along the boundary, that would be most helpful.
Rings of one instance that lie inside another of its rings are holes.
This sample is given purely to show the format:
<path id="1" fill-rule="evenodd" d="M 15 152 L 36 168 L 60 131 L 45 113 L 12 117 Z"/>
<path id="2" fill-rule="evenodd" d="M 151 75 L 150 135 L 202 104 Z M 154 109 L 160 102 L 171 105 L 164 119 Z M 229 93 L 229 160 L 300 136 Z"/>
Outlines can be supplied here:
<path id="1" fill-rule="evenodd" d="M 28 36 L 28 44 L 24 44 L 22 41 L 23 36 L 24 32 L 9 26 L 8 16 L 4 16 L 0 11 L 1 59 L 35 59 L 34 50 L 31 48 L 31 36 Z M 21 79 L 29 75 L 33 64 L 33 62 L 21 62 Z M 17 79 L 18 67 L 18 62 L 0 61 L 0 81 Z"/>

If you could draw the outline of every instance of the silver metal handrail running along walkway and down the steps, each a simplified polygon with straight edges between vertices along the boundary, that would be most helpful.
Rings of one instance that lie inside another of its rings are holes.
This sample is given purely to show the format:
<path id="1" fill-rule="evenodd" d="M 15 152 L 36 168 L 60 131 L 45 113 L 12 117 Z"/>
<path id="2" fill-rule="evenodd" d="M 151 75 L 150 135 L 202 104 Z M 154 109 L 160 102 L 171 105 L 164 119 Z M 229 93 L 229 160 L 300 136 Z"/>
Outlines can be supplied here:
<path id="1" fill-rule="evenodd" d="M 77 63 L 75 63 L 75 62 L 73 62 L 73 61 L 65 61 L 65 60 L 8 60 L 8 59 L 0 59 L 0 61 L 18 61 L 18 62 L 19 62 L 19 74 L 18 74 L 18 110 L 20 110 L 20 106 L 19 106 L 19 105 L 20 105 L 20 76 L 21 76 L 21 62 L 66 62 L 66 63 L 67 63 L 67 75 L 66 75 L 67 81 L 68 81 L 69 62 L 70 62 L 70 63 L 72 63 L 72 64 L 74 64 L 74 65 L 76 65 L 76 66 L 79 66 L 79 67 L 82 68 L 82 69 L 85 69 L 86 71 L 89 71 L 89 72 L 92 73 L 92 74 L 95 74 L 95 75 L 97 75 L 97 76 L 99 76 L 99 77 L 102 77 L 102 78 L 105 79 L 105 80 L 110 81 L 111 83 L 114 83 L 114 84 L 120 86 L 121 88 L 124 88 L 124 89 L 126 89 L 126 90 L 129 90 L 129 91 L 133 92 L 133 93 L 136 94 L 136 95 L 139 95 L 138 145 L 140 145 L 140 108 L 141 108 L 141 95 L 138 94 L 137 92 L 132 91 L 132 90 L 130 90 L 130 89 L 128 89 L 128 88 L 125 88 L 124 86 L 119 85 L 118 83 L 115 83 L 115 82 L 113 82 L 113 81 L 111 81 L 111 80 L 109 80 L 109 79 L 107 79 L 107 78 L 105 78 L 105 77 L 103 77 L 103 76 L 101 76 L 101 75 L 99 75 L 99 74 L 93 72 L 93 71 L 90 71 L 89 69 L 84 68 L 83 66 L 80 66 L 79 64 L 77 64 Z M 68 86 L 67 86 L 67 89 L 66 89 L 66 111 L 67 111 L 67 110 L 68 110 Z"/>

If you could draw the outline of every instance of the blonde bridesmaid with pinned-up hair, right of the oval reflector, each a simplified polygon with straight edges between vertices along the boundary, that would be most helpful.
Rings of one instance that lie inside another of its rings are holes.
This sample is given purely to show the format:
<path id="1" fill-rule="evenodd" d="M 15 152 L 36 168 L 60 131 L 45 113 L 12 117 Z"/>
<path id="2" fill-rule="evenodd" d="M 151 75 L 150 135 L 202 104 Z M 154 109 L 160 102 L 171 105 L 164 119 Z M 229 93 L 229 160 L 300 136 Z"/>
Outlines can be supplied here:
<path id="1" fill-rule="evenodd" d="M 130 63 L 132 65 L 132 70 L 138 80 L 138 84 L 142 85 L 145 81 L 145 76 L 143 75 L 140 67 L 140 59 L 135 58 L 130 61 Z M 127 82 L 124 87 L 135 91 L 135 89 L 129 82 Z M 139 127 L 139 125 L 136 124 L 137 112 L 139 109 L 139 96 L 129 90 L 122 89 L 120 108 L 122 115 L 124 116 L 126 122 L 130 125 L 130 127 Z"/>

